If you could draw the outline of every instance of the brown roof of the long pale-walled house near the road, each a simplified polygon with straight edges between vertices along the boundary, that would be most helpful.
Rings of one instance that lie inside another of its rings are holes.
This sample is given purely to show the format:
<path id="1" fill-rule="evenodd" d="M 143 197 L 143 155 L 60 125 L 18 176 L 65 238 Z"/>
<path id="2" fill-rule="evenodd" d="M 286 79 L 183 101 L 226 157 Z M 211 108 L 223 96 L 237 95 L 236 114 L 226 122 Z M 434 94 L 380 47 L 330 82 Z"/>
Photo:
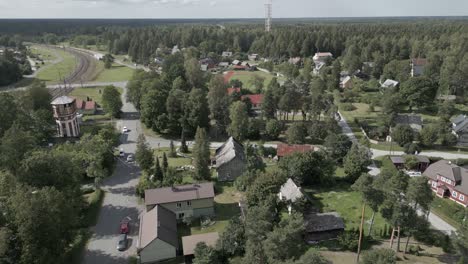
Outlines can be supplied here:
<path id="1" fill-rule="evenodd" d="M 145 190 L 145 205 L 213 198 L 212 182 Z"/>

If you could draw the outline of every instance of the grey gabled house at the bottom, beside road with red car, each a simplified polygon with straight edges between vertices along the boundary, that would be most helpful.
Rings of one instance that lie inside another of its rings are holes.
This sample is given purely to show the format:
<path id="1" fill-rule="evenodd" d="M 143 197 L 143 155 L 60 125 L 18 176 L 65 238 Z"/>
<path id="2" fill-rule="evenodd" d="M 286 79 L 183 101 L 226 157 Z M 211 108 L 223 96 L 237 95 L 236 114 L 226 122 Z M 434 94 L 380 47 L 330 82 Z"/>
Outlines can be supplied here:
<path id="1" fill-rule="evenodd" d="M 154 263 L 177 256 L 179 239 L 174 212 L 157 205 L 140 215 L 137 241 L 140 263 Z"/>

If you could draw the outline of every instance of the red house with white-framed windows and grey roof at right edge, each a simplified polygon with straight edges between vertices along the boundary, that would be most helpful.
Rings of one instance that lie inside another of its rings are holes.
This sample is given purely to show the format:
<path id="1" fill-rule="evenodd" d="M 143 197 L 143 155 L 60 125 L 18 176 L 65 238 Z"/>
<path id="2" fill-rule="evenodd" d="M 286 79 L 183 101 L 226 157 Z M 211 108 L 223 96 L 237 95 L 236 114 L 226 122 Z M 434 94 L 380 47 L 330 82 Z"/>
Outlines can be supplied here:
<path id="1" fill-rule="evenodd" d="M 423 173 L 429 178 L 432 191 L 441 198 L 449 198 L 468 207 L 468 170 L 440 160 L 431 164 Z"/>

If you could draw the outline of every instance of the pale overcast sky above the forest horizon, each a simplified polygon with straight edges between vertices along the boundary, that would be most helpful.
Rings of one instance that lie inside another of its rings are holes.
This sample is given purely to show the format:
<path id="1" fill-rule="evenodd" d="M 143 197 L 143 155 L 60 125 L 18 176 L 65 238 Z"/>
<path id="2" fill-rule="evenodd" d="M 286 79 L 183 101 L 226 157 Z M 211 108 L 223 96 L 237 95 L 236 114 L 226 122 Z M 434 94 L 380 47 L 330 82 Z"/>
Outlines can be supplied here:
<path id="1" fill-rule="evenodd" d="M 0 0 L 0 18 L 258 18 L 265 0 Z M 465 16 L 468 0 L 273 0 L 273 17 Z"/>

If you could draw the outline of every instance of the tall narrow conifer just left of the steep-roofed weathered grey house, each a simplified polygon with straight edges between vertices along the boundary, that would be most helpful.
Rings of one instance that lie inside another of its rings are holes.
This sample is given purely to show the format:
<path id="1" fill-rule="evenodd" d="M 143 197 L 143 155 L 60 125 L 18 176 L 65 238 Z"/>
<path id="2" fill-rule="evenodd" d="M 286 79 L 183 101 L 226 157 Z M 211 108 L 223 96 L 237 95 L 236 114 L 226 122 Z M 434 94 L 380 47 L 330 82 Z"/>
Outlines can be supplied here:
<path id="1" fill-rule="evenodd" d="M 208 167 L 210 165 L 210 142 L 204 128 L 197 128 L 193 147 L 193 162 L 195 165 L 193 178 L 197 181 L 209 180 L 211 177 Z"/>

